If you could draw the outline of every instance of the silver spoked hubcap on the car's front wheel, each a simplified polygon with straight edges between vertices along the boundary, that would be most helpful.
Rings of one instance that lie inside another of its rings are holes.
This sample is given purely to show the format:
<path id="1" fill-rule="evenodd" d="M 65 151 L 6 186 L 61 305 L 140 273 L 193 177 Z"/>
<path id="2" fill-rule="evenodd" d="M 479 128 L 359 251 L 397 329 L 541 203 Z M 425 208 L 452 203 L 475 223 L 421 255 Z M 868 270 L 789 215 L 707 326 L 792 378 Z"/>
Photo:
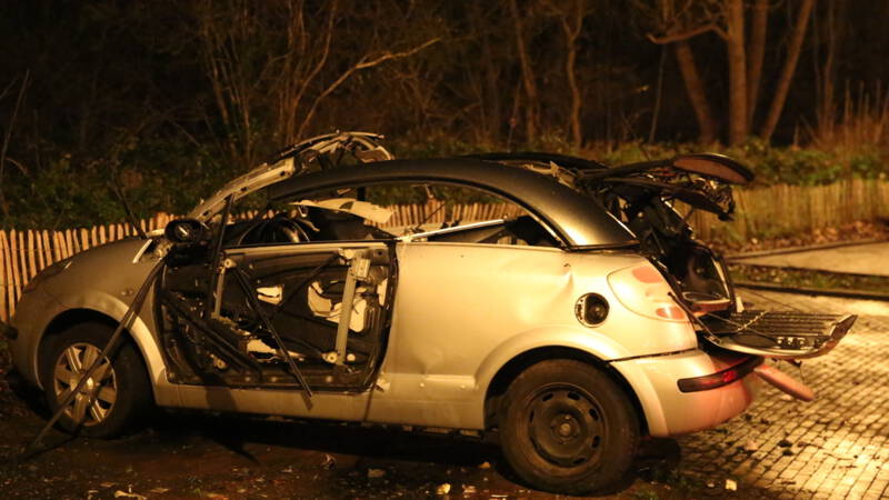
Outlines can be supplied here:
<path id="1" fill-rule="evenodd" d="M 57 401 L 61 402 L 77 388 L 87 370 L 100 354 L 101 351 L 96 346 L 79 342 L 69 346 L 59 356 L 59 359 L 56 360 L 53 376 Z M 114 407 L 117 397 L 118 383 L 114 369 L 108 358 L 102 358 L 92 376 L 87 379 L 64 409 L 64 414 L 74 422 L 82 422 L 83 426 L 94 426 L 108 417 Z"/>

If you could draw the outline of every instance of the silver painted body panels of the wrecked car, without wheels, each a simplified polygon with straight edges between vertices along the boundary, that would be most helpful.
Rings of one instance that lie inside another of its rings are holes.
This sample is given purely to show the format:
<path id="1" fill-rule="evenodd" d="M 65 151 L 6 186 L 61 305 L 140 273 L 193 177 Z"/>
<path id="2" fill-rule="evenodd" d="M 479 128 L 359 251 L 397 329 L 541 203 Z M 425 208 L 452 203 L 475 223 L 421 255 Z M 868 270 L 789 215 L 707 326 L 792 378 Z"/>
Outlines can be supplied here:
<path id="1" fill-rule="evenodd" d="M 291 178 L 296 170 L 292 159 L 263 166 L 230 183 L 193 216 L 210 220 L 224 204 L 220 200 L 233 192 L 242 196 L 288 178 L 297 184 L 300 179 Z M 643 316 L 626 307 L 626 296 L 616 296 L 610 276 L 639 267 L 653 270 L 652 264 L 608 246 L 578 251 L 590 247 L 585 238 L 596 236 L 571 227 L 567 214 L 552 217 L 546 226 L 561 231 L 573 248 L 397 241 L 391 329 L 376 382 L 362 392 L 320 391 L 309 400 L 299 390 L 172 383 L 151 294 L 129 334 L 150 371 L 154 401 L 171 408 L 483 430 L 490 423 L 489 391 L 505 367 L 533 352 L 570 351 L 597 363 L 627 389 L 652 436 L 713 427 L 743 411 L 752 401 L 755 377 L 693 392 L 677 386 L 680 379 L 719 372 L 742 358 L 705 352 L 685 316 Z M 18 306 L 13 327 L 19 336 L 11 342 L 14 363 L 29 381 L 42 383 L 41 341 L 58 324 L 96 314 L 123 318 L 134 290 L 159 258 L 147 251 L 149 247 L 156 246 L 130 239 L 96 248 L 38 279 Z M 383 244 L 319 242 L 233 249 L 228 254 L 373 247 Z M 578 320 L 575 304 L 593 291 L 611 310 L 605 322 L 589 327 Z M 645 288 L 637 292 L 647 293 Z"/>

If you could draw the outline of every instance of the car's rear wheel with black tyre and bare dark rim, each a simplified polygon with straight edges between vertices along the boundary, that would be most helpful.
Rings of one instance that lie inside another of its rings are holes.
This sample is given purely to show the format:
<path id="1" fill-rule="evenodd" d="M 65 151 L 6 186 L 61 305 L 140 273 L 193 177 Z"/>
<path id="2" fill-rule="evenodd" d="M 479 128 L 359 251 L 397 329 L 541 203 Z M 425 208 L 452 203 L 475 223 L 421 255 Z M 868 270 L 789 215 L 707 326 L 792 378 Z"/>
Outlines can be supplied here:
<path id="1" fill-rule="evenodd" d="M 507 461 L 529 486 L 551 492 L 610 492 L 626 478 L 639 420 L 626 393 L 581 361 L 541 361 L 507 390 L 499 419 Z"/>

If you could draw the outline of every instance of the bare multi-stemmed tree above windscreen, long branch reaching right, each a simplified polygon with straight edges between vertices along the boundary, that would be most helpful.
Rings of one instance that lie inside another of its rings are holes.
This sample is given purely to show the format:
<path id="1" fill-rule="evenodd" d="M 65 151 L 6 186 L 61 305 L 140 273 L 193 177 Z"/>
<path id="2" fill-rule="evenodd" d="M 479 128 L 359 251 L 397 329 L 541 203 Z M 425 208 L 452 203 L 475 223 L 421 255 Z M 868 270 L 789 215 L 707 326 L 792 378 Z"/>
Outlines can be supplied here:
<path id="1" fill-rule="evenodd" d="M 194 12 L 203 64 L 228 132 L 224 147 L 236 164 L 256 163 L 258 141 L 270 142 L 266 134 L 278 147 L 300 139 L 320 104 L 357 72 L 440 41 L 392 50 L 389 46 L 398 42 L 372 33 L 359 43 L 358 54 L 339 51 L 334 57 L 337 22 L 344 16 L 338 0 L 317 10 L 298 0 L 232 0 L 222 7 L 207 0 Z"/>

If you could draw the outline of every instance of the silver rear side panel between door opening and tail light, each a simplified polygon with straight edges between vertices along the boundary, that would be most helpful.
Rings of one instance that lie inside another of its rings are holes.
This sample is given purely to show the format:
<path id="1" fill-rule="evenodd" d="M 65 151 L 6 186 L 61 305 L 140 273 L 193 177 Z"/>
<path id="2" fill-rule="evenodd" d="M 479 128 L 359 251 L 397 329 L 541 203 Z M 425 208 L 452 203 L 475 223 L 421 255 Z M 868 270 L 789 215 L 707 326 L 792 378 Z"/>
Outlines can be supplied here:
<path id="1" fill-rule="evenodd" d="M 488 384 L 531 349 L 567 347 L 600 360 L 692 349 L 688 322 L 623 308 L 607 276 L 645 262 L 627 253 L 419 242 L 398 248 L 399 283 L 389 348 L 368 419 L 481 429 Z M 599 327 L 573 306 L 597 292 L 611 304 Z"/>

